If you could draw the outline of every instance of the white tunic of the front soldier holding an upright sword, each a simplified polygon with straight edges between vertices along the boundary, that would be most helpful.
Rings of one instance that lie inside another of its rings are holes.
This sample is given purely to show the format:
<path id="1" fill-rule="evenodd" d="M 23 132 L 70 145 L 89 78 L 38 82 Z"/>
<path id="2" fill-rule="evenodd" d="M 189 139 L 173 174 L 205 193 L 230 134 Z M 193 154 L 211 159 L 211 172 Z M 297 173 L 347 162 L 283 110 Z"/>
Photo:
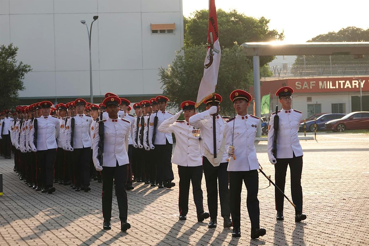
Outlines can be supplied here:
<path id="1" fill-rule="evenodd" d="M 259 169 L 256 157 L 255 135 L 260 119 L 254 115 L 236 115 L 225 123 L 225 148 L 234 146 L 234 156 L 228 162 L 228 171 L 250 171 Z M 233 130 L 234 125 L 234 130 Z"/>

